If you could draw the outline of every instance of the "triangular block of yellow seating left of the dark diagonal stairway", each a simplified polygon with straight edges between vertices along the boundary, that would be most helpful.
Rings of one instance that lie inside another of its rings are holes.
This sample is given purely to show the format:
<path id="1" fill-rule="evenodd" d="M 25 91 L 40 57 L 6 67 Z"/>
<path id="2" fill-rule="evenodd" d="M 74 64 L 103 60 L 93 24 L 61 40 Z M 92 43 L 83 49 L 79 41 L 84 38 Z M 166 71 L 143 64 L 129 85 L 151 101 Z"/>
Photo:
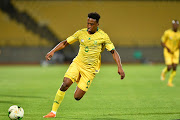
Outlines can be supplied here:
<path id="1" fill-rule="evenodd" d="M 28 31 L 23 24 L 0 11 L 0 46 L 51 46 L 52 43 Z"/>

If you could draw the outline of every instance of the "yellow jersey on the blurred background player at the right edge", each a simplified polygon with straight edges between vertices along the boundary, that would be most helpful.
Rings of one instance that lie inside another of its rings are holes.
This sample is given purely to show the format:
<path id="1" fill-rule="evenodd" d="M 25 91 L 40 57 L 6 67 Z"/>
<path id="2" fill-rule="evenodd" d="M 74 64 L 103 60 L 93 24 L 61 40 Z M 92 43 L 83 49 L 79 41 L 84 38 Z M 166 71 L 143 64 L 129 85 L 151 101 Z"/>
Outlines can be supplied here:
<path id="1" fill-rule="evenodd" d="M 168 29 L 164 32 L 161 40 L 172 52 L 175 52 L 179 47 L 180 31 L 174 32 L 172 29 Z"/>

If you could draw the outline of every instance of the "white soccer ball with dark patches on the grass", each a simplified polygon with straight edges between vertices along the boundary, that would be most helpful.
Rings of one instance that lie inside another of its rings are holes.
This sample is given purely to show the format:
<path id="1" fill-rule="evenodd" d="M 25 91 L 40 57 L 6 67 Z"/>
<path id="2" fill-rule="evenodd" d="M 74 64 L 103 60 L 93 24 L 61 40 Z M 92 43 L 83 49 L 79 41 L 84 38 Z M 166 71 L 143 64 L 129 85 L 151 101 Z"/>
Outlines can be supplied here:
<path id="1" fill-rule="evenodd" d="M 11 120 L 21 120 L 24 116 L 24 110 L 22 107 L 13 105 L 8 109 L 8 116 Z"/>

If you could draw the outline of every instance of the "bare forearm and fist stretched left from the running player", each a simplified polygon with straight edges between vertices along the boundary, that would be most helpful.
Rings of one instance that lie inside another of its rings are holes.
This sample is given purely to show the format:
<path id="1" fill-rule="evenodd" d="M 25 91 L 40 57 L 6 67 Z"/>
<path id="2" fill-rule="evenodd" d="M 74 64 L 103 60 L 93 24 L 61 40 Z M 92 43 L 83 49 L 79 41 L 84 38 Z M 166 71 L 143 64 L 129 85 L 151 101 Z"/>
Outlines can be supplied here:
<path id="1" fill-rule="evenodd" d="M 50 52 L 48 52 L 48 53 L 46 54 L 46 56 L 45 56 L 45 57 L 46 57 L 46 60 L 50 60 L 56 51 L 59 51 L 59 50 L 65 48 L 67 45 L 69 45 L 69 43 L 67 42 L 67 40 L 64 40 L 64 41 L 60 42 L 60 43 L 59 43 L 58 45 L 56 45 Z"/>

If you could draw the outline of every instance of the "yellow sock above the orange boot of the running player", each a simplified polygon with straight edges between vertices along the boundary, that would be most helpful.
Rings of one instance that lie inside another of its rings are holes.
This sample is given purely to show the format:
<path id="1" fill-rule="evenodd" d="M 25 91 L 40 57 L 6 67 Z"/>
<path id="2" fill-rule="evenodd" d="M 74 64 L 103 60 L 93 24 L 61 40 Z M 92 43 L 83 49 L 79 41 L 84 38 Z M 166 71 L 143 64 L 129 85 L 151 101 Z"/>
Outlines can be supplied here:
<path id="1" fill-rule="evenodd" d="M 53 106 L 52 106 L 52 111 L 57 112 L 57 109 L 59 108 L 59 106 L 64 98 L 64 95 L 65 95 L 65 92 L 58 89 L 55 99 L 54 99 Z"/>

